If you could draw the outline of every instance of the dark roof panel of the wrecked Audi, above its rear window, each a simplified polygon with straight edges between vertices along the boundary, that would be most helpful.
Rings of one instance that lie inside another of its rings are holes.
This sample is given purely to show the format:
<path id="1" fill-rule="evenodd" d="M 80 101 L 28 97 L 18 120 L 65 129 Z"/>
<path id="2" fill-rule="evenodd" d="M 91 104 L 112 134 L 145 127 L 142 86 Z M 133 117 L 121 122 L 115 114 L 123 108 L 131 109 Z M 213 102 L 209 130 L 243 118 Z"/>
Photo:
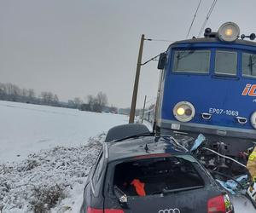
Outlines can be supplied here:
<path id="1" fill-rule="evenodd" d="M 170 137 L 141 136 L 126 139 L 125 141 L 113 141 L 107 143 L 108 160 L 121 158 L 133 158 L 152 154 L 183 154 L 187 153 L 184 147 L 178 146 Z"/>

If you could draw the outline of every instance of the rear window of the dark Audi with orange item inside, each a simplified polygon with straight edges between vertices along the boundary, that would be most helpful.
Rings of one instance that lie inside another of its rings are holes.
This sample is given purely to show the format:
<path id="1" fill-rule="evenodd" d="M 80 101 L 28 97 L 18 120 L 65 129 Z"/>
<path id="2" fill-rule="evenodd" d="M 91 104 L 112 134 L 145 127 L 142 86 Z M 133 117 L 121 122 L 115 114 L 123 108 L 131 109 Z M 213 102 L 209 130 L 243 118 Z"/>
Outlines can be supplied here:
<path id="1" fill-rule="evenodd" d="M 127 196 L 203 187 L 204 181 L 195 170 L 194 162 L 192 157 L 184 156 L 147 158 L 117 164 L 113 186 L 119 187 Z"/>

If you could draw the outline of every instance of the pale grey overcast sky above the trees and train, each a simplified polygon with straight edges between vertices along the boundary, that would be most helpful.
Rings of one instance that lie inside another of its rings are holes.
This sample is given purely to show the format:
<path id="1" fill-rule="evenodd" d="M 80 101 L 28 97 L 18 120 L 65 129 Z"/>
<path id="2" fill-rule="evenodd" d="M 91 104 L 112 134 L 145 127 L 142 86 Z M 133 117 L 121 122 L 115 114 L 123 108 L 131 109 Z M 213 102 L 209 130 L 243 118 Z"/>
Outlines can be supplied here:
<path id="1" fill-rule="evenodd" d="M 0 82 L 52 91 L 61 101 L 103 91 L 109 105 L 130 107 L 141 34 L 186 37 L 199 0 L 0 0 Z M 197 36 L 212 0 L 202 0 L 189 37 Z M 234 21 L 256 32 L 255 0 L 218 0 L 207 26 Z M 170 43 L 144 43 L 143 61 Z M 154 101 L 157 62 L 142 67 L 137 107 Z"/>

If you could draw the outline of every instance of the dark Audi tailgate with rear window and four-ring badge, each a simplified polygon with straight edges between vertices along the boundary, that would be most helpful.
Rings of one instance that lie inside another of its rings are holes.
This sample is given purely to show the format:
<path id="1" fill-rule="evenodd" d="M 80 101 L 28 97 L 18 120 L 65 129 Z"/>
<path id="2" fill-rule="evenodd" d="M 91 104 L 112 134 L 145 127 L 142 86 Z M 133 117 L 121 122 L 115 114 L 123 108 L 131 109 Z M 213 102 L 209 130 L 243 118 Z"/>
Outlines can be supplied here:
<path id="1" fill-rule="evenodd" d="M 113 170 L 112 199 L 105 202 L 108 209 L 200 213 L 207 212 L 209 194 L 217 196 L 191 156 L 130 159 Z M 119 201 L 121 195 L 127 196 L 127 202 Z"/>

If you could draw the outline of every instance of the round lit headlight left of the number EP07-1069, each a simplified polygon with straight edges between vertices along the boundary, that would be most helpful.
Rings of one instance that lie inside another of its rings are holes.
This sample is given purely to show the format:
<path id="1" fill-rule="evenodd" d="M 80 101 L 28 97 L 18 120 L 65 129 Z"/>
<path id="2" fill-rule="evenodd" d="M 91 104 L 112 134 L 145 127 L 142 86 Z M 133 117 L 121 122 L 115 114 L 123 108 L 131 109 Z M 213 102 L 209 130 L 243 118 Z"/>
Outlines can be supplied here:
<path id="1" fill-rule="evenodd" d="M 173 107 L 174 117 L 181 122 L 189 122 L 195 116 L 195 107 L 188 101 L 180 101 Z"/>

